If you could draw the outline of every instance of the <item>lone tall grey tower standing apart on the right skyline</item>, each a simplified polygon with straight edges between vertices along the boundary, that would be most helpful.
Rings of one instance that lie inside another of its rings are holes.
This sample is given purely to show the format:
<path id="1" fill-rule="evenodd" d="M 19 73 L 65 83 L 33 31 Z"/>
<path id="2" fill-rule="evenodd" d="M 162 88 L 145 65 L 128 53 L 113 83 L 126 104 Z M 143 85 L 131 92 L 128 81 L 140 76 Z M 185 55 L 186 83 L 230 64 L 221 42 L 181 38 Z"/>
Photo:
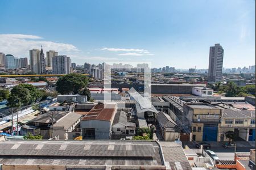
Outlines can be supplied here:
<path id="1" fill-rule="evenodd" d="M 222 76 L 224 49 L 220 44 L 210 46 L 208 82 L 220 82 Z"/>

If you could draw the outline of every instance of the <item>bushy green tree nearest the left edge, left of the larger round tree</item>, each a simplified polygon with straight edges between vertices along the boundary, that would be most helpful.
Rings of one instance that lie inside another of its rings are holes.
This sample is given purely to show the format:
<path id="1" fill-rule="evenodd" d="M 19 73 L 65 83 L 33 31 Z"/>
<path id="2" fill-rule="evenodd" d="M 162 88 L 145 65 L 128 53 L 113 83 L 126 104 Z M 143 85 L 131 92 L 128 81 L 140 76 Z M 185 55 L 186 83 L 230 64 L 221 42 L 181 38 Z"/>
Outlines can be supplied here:
<path id="1" fill-rule="evenodd" d="M 9 107 L 20 107 L 31 103 L 32 96 L 27 88 L 22 86 L 15 86 L 11 90 L 11 94 L 7 99 Z"/>

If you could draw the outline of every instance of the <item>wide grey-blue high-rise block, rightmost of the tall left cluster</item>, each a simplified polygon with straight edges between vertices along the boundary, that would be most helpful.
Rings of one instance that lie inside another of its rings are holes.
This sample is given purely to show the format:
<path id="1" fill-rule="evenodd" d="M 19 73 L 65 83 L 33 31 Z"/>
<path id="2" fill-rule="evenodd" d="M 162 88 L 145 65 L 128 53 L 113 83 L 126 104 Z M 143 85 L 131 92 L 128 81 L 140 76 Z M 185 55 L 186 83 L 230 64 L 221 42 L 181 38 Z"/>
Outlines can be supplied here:
<path id="1" fill-rule="evenodd" d="M 53 74 L 69 74 L 71 73 L 71 59 L 67 56 L 54 56 L 52 58 Z"/>

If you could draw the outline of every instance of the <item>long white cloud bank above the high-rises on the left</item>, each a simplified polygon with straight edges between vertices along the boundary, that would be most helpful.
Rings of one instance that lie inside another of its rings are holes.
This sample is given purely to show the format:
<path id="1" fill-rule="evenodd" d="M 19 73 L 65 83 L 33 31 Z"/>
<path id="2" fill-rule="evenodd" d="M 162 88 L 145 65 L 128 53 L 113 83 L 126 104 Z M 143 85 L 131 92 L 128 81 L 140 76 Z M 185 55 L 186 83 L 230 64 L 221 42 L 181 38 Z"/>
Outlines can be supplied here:
<path id="1" fill-rule="evenodd" d="M 55 50 L 59 53 L 78 52 L 76 46 L 53 41 L 43 41 L 43 37 L 23 34 L 0 34 L 0 52 L 13 54 L 15 57 L 28 57 L 30 49 L 40 49 L 44 52 Z"/>

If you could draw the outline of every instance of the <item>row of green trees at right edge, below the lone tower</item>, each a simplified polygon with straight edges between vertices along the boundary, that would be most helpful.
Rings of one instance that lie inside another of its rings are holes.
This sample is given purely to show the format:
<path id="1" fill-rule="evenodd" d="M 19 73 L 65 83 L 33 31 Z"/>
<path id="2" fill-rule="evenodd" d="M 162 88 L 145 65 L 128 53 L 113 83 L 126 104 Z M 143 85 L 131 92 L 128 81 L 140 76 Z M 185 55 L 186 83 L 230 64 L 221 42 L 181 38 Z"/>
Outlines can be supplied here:
<path id="1" fill-rule="evenodd" d="M 234 82 L 229 82 L 224 85 L 220 82 L 213 84 L 208 84 L 209 88 L 213 88 L 214 91 L 218 93 L 225 93 L 226 97 L 245 97 L 245 96 L 255 96 L 255 85 L 246 85 L 244 87 L 237 86 Z"/>

